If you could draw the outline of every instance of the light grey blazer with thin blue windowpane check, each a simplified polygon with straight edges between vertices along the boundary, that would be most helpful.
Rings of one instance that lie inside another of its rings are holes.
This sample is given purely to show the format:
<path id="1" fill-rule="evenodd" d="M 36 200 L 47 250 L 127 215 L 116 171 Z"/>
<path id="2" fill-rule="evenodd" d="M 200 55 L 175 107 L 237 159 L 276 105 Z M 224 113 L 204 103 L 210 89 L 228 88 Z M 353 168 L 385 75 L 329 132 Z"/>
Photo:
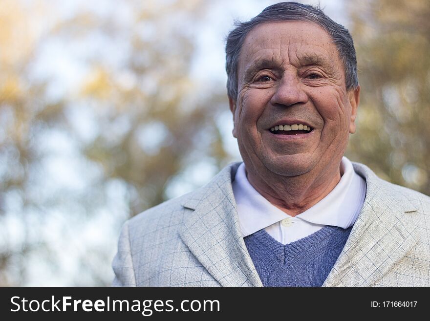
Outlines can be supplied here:
<path id="1" fill-rule="evenodd" d="M 262 286 L 239 229 L 232 191 L 238 165 L 129 219 L 112 285 Z M 366 179 L 366 198 L 323 286 L 429 286 L 430 197 L 353 165 Z"/>

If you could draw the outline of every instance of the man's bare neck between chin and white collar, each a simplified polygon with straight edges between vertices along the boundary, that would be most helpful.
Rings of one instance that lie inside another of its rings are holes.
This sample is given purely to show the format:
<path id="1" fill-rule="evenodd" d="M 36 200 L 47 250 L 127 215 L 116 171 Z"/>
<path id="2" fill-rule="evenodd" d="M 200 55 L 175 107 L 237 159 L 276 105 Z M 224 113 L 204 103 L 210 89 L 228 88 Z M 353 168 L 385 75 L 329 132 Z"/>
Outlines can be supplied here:
<path id="1" fill-rule="evenodd" d="M 323 171 L 315 168 L 298 176 L 280 176 L 273 172 L 258 175 L 246 171 L 248 181 L 271 204 L 288 215 L 296 216 L 314 206 L 330 193 L 341 179 L 340 163 Z M 323 173 L 315 175 L 314 172 Z"/>

